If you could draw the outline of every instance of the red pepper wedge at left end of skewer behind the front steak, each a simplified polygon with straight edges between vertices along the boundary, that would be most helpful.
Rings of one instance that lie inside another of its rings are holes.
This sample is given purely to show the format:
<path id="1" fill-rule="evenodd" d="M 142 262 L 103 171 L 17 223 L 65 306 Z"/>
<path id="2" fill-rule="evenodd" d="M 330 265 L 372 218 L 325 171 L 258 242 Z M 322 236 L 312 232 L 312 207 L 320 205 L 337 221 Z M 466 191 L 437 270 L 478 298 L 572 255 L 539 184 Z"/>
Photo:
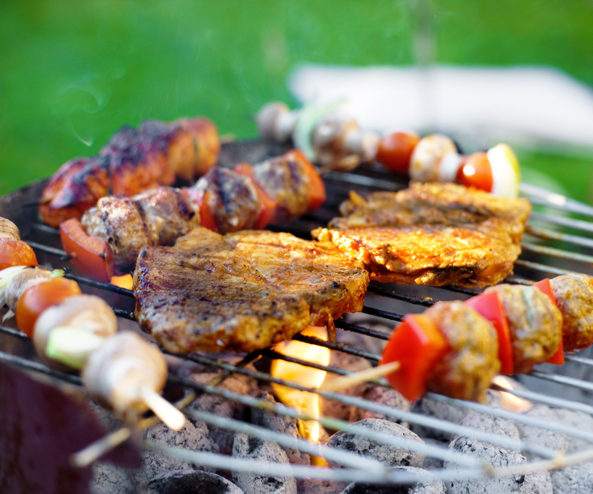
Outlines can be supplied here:
<path id="1" fill-rule="evenodd" d="M 109 283 L 113 276 L 113 250 L 102 238 L 91 237 L 77 218 L 60 224 L 60 238 L 71 263 L 85 275 Z"/>

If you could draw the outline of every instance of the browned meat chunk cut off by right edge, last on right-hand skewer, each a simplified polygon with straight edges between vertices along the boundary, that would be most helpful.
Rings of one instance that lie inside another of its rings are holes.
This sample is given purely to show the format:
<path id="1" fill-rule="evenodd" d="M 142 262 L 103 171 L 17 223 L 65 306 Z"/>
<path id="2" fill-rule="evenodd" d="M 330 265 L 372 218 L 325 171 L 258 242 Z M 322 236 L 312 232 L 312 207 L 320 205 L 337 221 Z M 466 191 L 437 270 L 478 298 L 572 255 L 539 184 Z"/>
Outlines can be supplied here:
<path id="1" fill-rule="evenodd" d="M 556 305 L 562 312 L 562 345 L 566 352 L 593 342 L 593 286 L 585 275 L 556 276 L 550 280 Z"/>

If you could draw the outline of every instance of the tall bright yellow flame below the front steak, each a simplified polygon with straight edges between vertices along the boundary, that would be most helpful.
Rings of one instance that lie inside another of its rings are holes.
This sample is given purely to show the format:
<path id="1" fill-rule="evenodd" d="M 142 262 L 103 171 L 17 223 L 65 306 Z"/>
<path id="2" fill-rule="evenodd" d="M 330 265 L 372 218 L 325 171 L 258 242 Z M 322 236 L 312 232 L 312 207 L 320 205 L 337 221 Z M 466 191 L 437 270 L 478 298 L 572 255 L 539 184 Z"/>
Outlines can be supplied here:
<path id="1" fill-rule="evenodd" d="M 316 336 L 321 340 L 327 341 L 327 330 L 325 327 L 309 326 L 301 334 L 305 336 Z M 289 341 L 276 345 L 274 350 L 282 353 L 282 355 L 314 362 L 315 364 L 328 365 L 330 362 L 330 350 L 323 348 L 323 346 Z M 326 371 L 320 371 L 283 360 L 272 361 L 270 373 L 274 377 L 292 381 L 309 388 L 319 388 L 327 374 Z M 312 419 L 319 418 L 320 401 L 318 394 L 294 390 L 274 383 L 272 383 L 272 388 L 282 403 L 293 407 L 297 412 L 310 416 Z M 299 420 L 299 428 L 301 428 L 301 435 L 304 438 L 315 442 L 319 440 L 320 426 L 316 420 Z"/>

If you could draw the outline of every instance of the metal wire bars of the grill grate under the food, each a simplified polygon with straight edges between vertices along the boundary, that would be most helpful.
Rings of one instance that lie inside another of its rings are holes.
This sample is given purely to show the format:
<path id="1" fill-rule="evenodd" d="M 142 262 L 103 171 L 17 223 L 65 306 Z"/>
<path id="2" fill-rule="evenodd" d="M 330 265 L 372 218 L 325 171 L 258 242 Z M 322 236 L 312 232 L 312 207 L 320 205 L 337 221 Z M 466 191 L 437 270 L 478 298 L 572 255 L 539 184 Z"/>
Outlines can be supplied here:
<path id="1" fill-rule="evenodd" d="M 327 224 L 327 221 L 329 221 L 329 219 L 333 218 L 333 216 L 336 215 L 337 206 L 345 197 L 348 190 L 355 189 L 358 190 L 358 192 L 366 193 L 372 192 L 372 190 L 377 189 L 398 190 L 406 186 L 406 184 L 404 183 L 398 183 L 397 181 L 394 181 L 393 176 L 386 175 L 372 167 L 361 168 L 358 171 L 356 171 L 356 173 L 330 172 L 326 174 L 326 176 L 324 176 L 324 179 L 326 181 L 329 199 L 326 205 L 323 206 L 323 208 L 321 208 L 315 213 L 305 215 L 303 218 L 286 227 L 273 227 L 271 229 L 275 231 L 288 231 L 302 238 L 310 238 L 310 231 L 313 228 Z M 534 203 L 538 202 L 534 201 Z M 562 262 L 563 264 L 568 264 L 568 267 L 575 267 L 575 269 L 577 270 L 576 272 L 579 272 L 579 270 L 581 269 L 584 271 L 589 270 L 588 264 L 593 263 L 593 256 L 583 254 L 577 251 L 563 250 L 562 248 L 557 247 L 557 244 L 560 243 L 562 245 L 569 244 L 575 246 L 577 250 L 580 247 L 591 248 L 593 247 L 593 240 L 578 235 L 562 233 L 556 230 L 548 230 L 546 228 L 542 228 L 539 226 L 541 222 L 547 222 L 549 224 L 556 226 L 569 227 L 584 232 L 591 232 L 593 231 L 593 223 L 588 221 L 582 221 L 579 219 L 568 218 L 567 216 L 560 215 L 559 213 L 557 213 L 557 210 L 562 208 L 560 206 L 554 206 L 554 208 L 556 209 L 556 211 L 554 211 L 553 213 L 551 213 L 549 209 L 533 213 L 533 215 L 531 216 L 531 220 L 537 221 L 538 225 L 528 225 L 526 233 L 531 237 L 534 237 L 534 240 L 531 242 L 525 241 L 524 243 L 522 243 L 523 252 L 529 253 L 531 259 L 519 259 L 515 263 L 515 266 L 518 267 L 520 270 L 535 273 L 534 278 L 537 279 L 544 278 L 545 276 L 550 274 L 562 275 L 566 273 L 575 272 L 575 270 L 565 269 L 565 267 L 550 266 L 544 264 L 543 262 L 540 262 L 543 260 L 542 257 L 552 258 L 554 259 L 554 263 Z M 47 225 L 37 223 L 33 225 L 30 234 L 27 237 L 23 238 L 23 240 L 27 241 L 37 253 L 42 252 L 44 254 L 47 254 L 47 256 L 49 256 L 51 259 L 54 259 L 52 260 L 53 265 L 55 265 L 56 267 L 62 267 L 64 264 L 66 264 L 66 260 L 68 259 L 68 256 L 66 256 L 65 252 L 60 248 L 56 248 L 39 241 L 39 237 L 41 236 L 46 239 L 49 238 L 49 240 L 47 240 L 47 243 L 53 243 L 57 245 L 59 243 L 58 235 L 59 231 L 55 228 L 51 228 Z M 52 240 L 52 238 L 54 240 Z M 554 246 L 541 245 L 542 239 L 547 241 L 554 241 L 555 244 Z M 110 294 L 119 296 L 119 299 L 121 299 L 122 297 L 130 297 L 130 303 L 122 305 L 132 305 L 133 292 L 130 290 L 110 285 L 109 283 L 98 282 L 72 272 L 66 273 L 66 277 L 75 280 L 81 285 L 88 286 L 94 293 L 97 293 L 97 291 L 100 292 L 100 294 L 103 295 L 104 298 L 107 298 Z M 523 278 L 521 276 L 515 275 L 508 276 L 508 278 L 505 281 L 508 283 L 518 283 L 522 285 L 530 285 L 534 282 L 530 278 Z M 417 289 L 409 288 L 410 292 L 403 292 L 400 290 L 406 289 L 406 287 L 404 286 L 397 286 L 396 289 L 393 289 L 390 285 L 380 285 L 377 283 L 371 283 L 371 285 L 369 285 L 368 294 L 373 295 L 375 297 L 373 302 L 378 301 L 378 303 L 380 303 L 380 301 L 384 301 L 388 303 L 389 301 L 400 301 L 405 302 L 407 304 L 415 305 L 417 306 L 416 311 L 420 311 L 423 310 L 423 307 L 430 307 L 432 304 L 435 304 L 435 302 L 438 301 L 438 299 L 441 299 L 441 297 L 442 299 L 451 299 L 457 298 L 457 295 L 452 294 L 463 294 L 471 296 L 480 292 L 478 290 L 456 288 L 451 286 L 445 286 L 438 289 L 428 289 L 427 287 L 421 288 L 423 289 L 424 293 L 430 291 L 431 293 L 438 294 L 438 296 L 428 297 L 424 295 L 417 295 L 416 293 L 412 293 L 412 291 L 417 292 Z M 452 292 L 452 294 L 447 294 L 447 292 Z M 120 318 L 125 318 L 127 320 L 134 319 L 133 312 L 129 308 L 126 309 L 123 307 L 113 307 L 113 310 Z M 391 326 L 390 321 L 401 321 L 404 317 L 403 314 L 395 313 L 393 311 L 388 311 L 380 308 L 369 307 L 368 305 L 365 305 L 364 309 L 362 310 L 362 313 L 372 316 L 374 318 L 372 320 L 372 323 L 376 322 L 377 318 L 380 318 L 382 320 L 386 320 L 389 326 Z M 361 326 L 359 324 L 355 324 L 355 321 L 338 320 L 336 321 L 336 328 L 343 330 L 345 332 L 358 333 L 379 340 L 387 340 L 390 336 L 390 333 L 388 332 Z M 0 325 L 0 333 L 17 339 L 28 339 L 27 336 L 25 336 L 24 333 L 21 333 L 18 329 L 4 324 Z M 378 359 L 380 358 L 380 355 L 378 355 L 377 353 L 370 352 L 364 349 L 355 348 L 354 346 L 347 345 L 345 343 L 326 342 L 316 337 L 302 336 L 301 334 L 297 334 L 293 337 L 293 339 L 305 343 L 310 343 L 311 345 L 323 346 L 334 351 L 363 357 L 371 361 L 371 364 L 373 365 L 376 364 Z M 163 348 L 161 348 L 161 350 L 164 353 L 168 353 Z M 550 450 L 549 448 L 542 447 L 541 445 L 537 444 L 531 444 L 530 442 L 526 442 L 524 440 L 512 439 L 508 436 L 477 431 L 476 429 L 470 429 L 461 426 L 458 423 L 450 422 L 448 420 L 426 416 L 415 412 L 407 412 L 404 410 L 387 406 L 385 404 L 375 403 L 373 401 L 369 401 L 356 396 L 350 396 L 343 393 L 321 391 L 314 388 L 307 388 L 297 383 L 292 383 L 286 380 L 272 377 L 272 375 L 268 374 L 267 372 L 245 368 L 247 364 L 256 361 L 262 356 L 273 359 L 282 359 L 284 361 L 294 362 L 315 369 L 333 372 L 334 374 L 338 375 L 350 374 L 350 371 L 339 368 L 337 366 L 325 366 L 315 364 L 314 362 L 308 362 L 304 359 L 282 355 L 278 352 L 275 352 L 272 349 L 263 349 L 250 353 L 246 356 L 246 358 L 243 359 L 243 361 L 241 361 L 237 365 L 229 364 L 228 362 L 212 358 L 212 356 L 198 355 L 197 353 L 191 353 L 189 355 L 184 356 L 176 355 L 176 358 L 187 359 L 188 361 L 196 362 L 197 364 L 202 364 L 210 366 L 212 368 L 220 369 L 222 374 L 220 375 L 219 379 L 216 380 L 216 383 L 211 383 L 208 385 L 196 383 L 196 381 L 190 380 L 188 378 L 181 378 L 178 375 L 174 374 L 174 372 L 171 372 L 168 377 L 168 383 L 174 385 L 181 385 L 184 388 L 187 388 L 187 390 L 192 390 L 197 394 L 208 393 L 217 395 L 220 397 L 224 397 L 228 400 L 237 401 L 238 403 L 241 403 L 248 407 L 256 407 L 280 415 L 286 415 L 302 420 L 313 419 L 313 417 L 307 416 L 302 413 L 298 413 L 294 409 L 283 404 L 272 404 L 267 401 L 254 398 L 252 396 L 236 393 L 235 391 L 230 391 L 218 387 L 218 384 L 220 384 L 229 375 L 232 375 L 234 373 L 242 374 L 247 377 L 251 377 L 255 380 L 263 381 L 266 383 L 282 384 L 298 390 L 309 391 L 310 393 L 317 393 L 321 397 L 324 397 L 326 399 L 336 400 L 342 402 L 343 404 L 353 405 L 361 409 L 382 413 L 385 416 L 394 417 L 399 420 L 406 420 L 407 422 L 415 423 L 416 425 L 422 425 L 432 429 L 438 429 L 439 431 L 449 432 L 451 434 L 471 436 L 478 439 L 479 441 L 489 442 L 495 445 L 499 445 L 500 447 L 505 447 L 512 450 L 531 452 L 537 455 L 538 457 L 543 458 L 542 460 L 534 460 L 531 461 L 531 463 L 527 464 L 519 464 L 510 467 L 492 468 L 491 466 L 480 464 L 479 461 L 476 460 L 476 458 L 473 458 L 470 455 L 462 455 L 460 453 L 449 452 L 447 448 L 444 447 L 422 444 L 416 441 L 408 441 L 403 438 L 388 438 L 384 435 L 377 434 L 374 431 L 369 431 L 369 429 L 362 428 L 361 426 L 350 425 L 349 423 L 344 422 L 343 420 L 337 420 L 331 417 L 322 416 L 320 417 L 320 419 L 318 419 L 318 422 L 320 422 L 322 426 L 330 430 L 340 430 L 348 428 L 349 432 L 352 432 L 352 434 L 366 436 L 366 438 L 368 439 L 382 442 L 384 444 L 391 444 L 394 447 L 408 448 L 411 451 L 417 451 L 422 454 L 426 454 L 429 457 L 439 458 L 441 460 L 444 460 L 446 457 L 448 461 L 454 461 L 458 465 L 463 466 L 461 470 L 455 471 L 447 471 L 443 469 L 431 470 L 432 474 L 434 474 L 439 479 L 444 480 L 445 482 L 448 480 L 455 479 L 472 479 L 486 475 L 509 476 L 515 474 L 527 474 L 532 471 L 537 471 L 543 468 L 550 469 L 554 467 L 575 464 L 581 461 L 593 459 L 593 446 L 591 450 L 587 450 L 584 452 L 579 452 L 576 454 L 566 456 L 557 455 L 556 452 Z M 29 371 L 41 372 L 43 374 L 49 375 L 50 377 L 65 381 L 67 383 L 76 385 L 81 384 L 81 380 L 79 377 L 55 371 L 54 369 L 50 369 L 46 365 L 40 363 L 39 361 L 33 358 L 24 358 L 22 356 L 12 355 L 11 353 L 0 352 L 0 360 L 7 362 L 8 364 L 19 366 L 23 369 L 27 369 Z M 593 359 L 581 356 L 567 355 L 566 360 L 568 362 L 571 362 L 572 364 L 593 366 Z M 552 383 L 562 385 L 568 385 L 570 387 L 579 388 L 581 390 L 593 391 L 593 383 L 578 378 L 568 377 L 560 374 L 553 374 L 552 372 L 543 371 L 540 369 L 530 372 L 530 375 L 539 380 L 550 381 Z M 380 378 L 373 382 L 375 384 L 388 386 L 387 381 L 385 381 L 384 378 Z M 549 406 L 563 407 L 566 409 L 585 412 L 593 415 L 593 406 L 581 403 L 580 401 L 567 400 L 560 397 L 550 396 L 549 394 L 545 393 L 537 393 L 534 391 L 508 390 L 506 388 L 501 388 L 496 384 L 492 384 L 491 388 L 497 391 L 505 391 L 506 393 L 510 393 L 514 396 L 527 399 L 533 403 L 541 403 L 547 404 Z M 474 403 L 463 400 L 454 400 L 433 393 L 429 393 L 428 396 L 432 399 L 442 401 L 444 403 L 464 407 L 467 410 L 476 410 L 477 412 L 488 413 L 489 415 L 511 419 L 515 422 L 522 423 L 525 425 L 531 425 L 543 429 L 548 429 L 550 431 L 561 432 L 568 436 L 573 436 L 575 438 L 589 441 L 593 444 L 593 434 L 585 432 L 581 429 L 574 428 L 572 426 L 563 425 L 562 423 L 551 423 L 520 413 L 509 412 L 508 410 L 499 409 L 487 404 Z M 301 450 L 303 452 L 307 452 L 309 454 L 326 457 L 328 460 L 333 461 L 334 463 L 342 464 L 343 466 L 345 466 L 345 468 L 300 466 L 294 464 L 288 466 L 276 463 L 262 463 L 259 461 L 241 460 L 238 458 L 229 457 L 228 455 L 214 454 L 210 452 L 196 452 L 182 450 L 180 448 L 168 448 L 155 443 L 145 443 L 144 446 L 146 448 L 157 450 L 164 454 L 170 455 L 171 457 L 181 458 L 186 461 L 192 461 L 196 464 L 200 464 L 203 466 L 221 468 L 222 470 L 251 471 L 253 473 L 260 473 L 272 476 L 293 476 L 297 478 L 337 480 L 342 482 L 357 481 L 365 483 L 382 483 L 393 485 L 402 483 L 413 483 L 417 480 L 422 480 L 422 476 L 418 476 L 417 474 L 407 472 L 394 472 L 389 468 L 381 466 L 381 464 L 377 461 L 361 458 L 359 456 L 353 455 L 350 452 L 336 450 L 335 448 L 330 448 L 321 444 L 314 444 L 304 439 L 295 439 L 291 436 L 280 434 L 279 432 L 273 432 L 266 428 L 257 427 L 251 425 L 250 423 L 242 422 L 240 420 L 216 416 L 208 412 L 192 411 L 187 412 L 187 415 L 193 419 L 203 420 L 204 422 L 208 423 L 208 425 L 217 426 L 219 428 L 225 428 L 230 431 L 246 432 L 249 435 L 257 436 L 262 439 L 276 441 L 283 447 L 291 447 Z"/>

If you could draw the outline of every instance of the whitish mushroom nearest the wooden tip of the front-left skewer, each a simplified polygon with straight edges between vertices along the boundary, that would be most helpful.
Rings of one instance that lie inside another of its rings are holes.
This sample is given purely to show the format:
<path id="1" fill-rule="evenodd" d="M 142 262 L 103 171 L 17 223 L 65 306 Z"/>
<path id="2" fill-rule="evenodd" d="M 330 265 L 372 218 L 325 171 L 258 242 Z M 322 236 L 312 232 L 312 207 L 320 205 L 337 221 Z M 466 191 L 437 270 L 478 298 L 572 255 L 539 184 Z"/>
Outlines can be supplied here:
<path id="1" fill-rule="evenodd" d="M 160 350 L 133 332 L 108 338 L 82 370 L 82 382 L 94 398 L 130 419 L 148 408 L 143 388 L 161 393 L 166 380 L 167 362 Z"/>

